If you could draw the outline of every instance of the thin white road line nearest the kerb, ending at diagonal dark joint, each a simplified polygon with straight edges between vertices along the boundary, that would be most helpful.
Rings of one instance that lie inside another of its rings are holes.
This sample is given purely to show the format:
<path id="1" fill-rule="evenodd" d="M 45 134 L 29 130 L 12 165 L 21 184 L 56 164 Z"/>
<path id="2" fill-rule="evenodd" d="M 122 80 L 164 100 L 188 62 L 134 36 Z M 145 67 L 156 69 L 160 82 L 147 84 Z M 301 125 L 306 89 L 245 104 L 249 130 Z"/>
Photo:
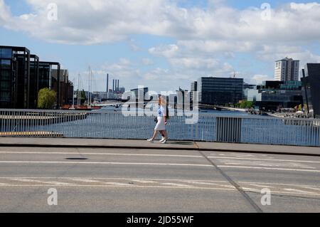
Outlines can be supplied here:
<path id="1" fill-rule="evenodd" d="M 74 154 L 74 155 L 106 155 L 106 156 L 146 156 L 146 157 L 186 157 L 203 158 L 200 155 L 181 155 L 181 154 L 117 154 L 117 153 L 78 153 L 78 152 L 0 152 L 0 154 Z"/>

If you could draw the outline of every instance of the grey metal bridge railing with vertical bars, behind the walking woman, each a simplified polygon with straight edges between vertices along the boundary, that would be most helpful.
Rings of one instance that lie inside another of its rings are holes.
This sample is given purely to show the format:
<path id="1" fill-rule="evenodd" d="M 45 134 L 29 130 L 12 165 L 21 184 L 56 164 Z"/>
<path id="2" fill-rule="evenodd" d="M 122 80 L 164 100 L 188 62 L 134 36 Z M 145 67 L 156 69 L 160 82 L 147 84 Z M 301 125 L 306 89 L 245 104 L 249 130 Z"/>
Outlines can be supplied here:
<path id="1" fill-rule="evenodd" d="M 0 110 L 0 137 L 146 139 L 154 117 L 125 117 L 121 112 Z M 199 114 L 198 123 L 171 117 L 169 138 L 320 147 L 320 120 L 251 115 Z"/>

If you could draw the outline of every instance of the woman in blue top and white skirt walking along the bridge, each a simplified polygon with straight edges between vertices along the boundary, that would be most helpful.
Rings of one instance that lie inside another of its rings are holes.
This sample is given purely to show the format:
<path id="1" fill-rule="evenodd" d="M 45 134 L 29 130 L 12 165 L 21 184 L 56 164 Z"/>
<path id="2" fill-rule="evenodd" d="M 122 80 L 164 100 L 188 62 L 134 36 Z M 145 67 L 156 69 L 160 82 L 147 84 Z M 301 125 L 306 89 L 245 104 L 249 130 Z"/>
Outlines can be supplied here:
<path id="1" fill-rule="evenodd" d="M 164 135 L 164 138 L 161 139 L 160 142 L 166 144 L 166 142 L 168 141 L 168 134 L 166 133 L 166 100 L 162 96 L 159 97 L 159 110 L 156 119 L 157 123 L 156 127 L 154 128 L 154 135 L 151 139 L 148 139 L 148 141 L 154 142 L 154 139 L 156 139 L 158 132 L 162 132 L 161 134 Z"/>

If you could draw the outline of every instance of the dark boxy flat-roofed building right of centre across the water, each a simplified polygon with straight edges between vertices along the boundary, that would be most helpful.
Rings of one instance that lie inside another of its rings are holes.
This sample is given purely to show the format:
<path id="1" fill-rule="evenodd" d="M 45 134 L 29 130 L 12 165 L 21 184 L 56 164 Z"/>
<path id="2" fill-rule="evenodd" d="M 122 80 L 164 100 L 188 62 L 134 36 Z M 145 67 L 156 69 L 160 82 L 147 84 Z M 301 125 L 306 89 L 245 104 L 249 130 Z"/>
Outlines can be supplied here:
<path id="1" fill-rule="evenodd" d="M 199 102 L 207 105 L 235 104 L 242 100 L 242 78 L 199 78 Z"/>

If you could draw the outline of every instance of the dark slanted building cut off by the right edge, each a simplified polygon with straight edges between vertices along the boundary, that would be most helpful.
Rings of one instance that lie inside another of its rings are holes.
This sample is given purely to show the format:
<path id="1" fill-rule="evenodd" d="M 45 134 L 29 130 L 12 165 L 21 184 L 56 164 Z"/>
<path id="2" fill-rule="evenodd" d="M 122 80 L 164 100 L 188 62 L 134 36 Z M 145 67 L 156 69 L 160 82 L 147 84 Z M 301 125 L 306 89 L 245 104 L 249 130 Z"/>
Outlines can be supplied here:
<path id="1" fill-rule="evenodd" d="M 304 103 L 309 113 L 320 118 L 320 63 L 307 63 L 302 75 Z"/>

